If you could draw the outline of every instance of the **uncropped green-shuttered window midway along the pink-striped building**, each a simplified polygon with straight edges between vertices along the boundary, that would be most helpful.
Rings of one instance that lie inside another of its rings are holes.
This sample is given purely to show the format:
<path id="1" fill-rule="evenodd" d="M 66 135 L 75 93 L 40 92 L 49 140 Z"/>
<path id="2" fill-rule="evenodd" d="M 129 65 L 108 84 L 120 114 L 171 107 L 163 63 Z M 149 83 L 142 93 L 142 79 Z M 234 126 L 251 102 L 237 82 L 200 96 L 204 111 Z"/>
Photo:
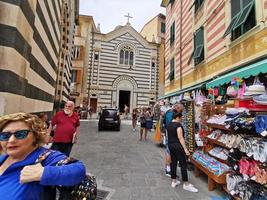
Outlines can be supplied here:
<path id="1" fill-rule="evenodd" d="M 204 60 L 204 28 L 200 27 L 194 35 L 194 51 L 188 61 L 191 62 L 194 59 L 195 65 L 198 65 Z"/>

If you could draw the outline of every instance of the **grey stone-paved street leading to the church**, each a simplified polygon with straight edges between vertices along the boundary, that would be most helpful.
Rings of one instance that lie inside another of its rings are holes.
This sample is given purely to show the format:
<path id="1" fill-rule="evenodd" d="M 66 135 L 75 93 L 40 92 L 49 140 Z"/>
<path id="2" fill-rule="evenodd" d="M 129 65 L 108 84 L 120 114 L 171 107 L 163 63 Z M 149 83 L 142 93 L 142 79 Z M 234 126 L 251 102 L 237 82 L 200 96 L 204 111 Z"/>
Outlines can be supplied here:
<path id="1" fill-rule="evenodd" d="M 163 171 L 162 148 L 152 142 L 138 141 L 138 132 L 130 121 L 123 121 L 121 131 L 97 131 L 97 121 L 81 122 L 81 134 L 72 156 L 81 159 L 87 170 L 97 177 L 99 189 L 108 190 L 112 200 L 208 200 L 219 196 L 207 191 L 206 177 L 189 179 L 199 193 L 173 189 Z M 180 170 L 178 170 L 180 174 Z"/>

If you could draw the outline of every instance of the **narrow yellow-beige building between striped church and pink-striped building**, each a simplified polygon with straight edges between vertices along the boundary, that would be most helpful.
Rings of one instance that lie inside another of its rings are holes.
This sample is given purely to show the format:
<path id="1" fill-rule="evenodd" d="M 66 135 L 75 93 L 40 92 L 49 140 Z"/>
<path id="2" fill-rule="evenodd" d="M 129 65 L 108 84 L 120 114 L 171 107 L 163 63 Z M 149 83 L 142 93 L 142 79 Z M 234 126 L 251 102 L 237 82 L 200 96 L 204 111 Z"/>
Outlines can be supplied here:
<path id="1" fill-rule="evenodd" d="M 164 95 L 165 74 L 165 15 L 158 14 L 147 22 L 140 34 L 149 42 L 159 44 L 158 96 Z"/>

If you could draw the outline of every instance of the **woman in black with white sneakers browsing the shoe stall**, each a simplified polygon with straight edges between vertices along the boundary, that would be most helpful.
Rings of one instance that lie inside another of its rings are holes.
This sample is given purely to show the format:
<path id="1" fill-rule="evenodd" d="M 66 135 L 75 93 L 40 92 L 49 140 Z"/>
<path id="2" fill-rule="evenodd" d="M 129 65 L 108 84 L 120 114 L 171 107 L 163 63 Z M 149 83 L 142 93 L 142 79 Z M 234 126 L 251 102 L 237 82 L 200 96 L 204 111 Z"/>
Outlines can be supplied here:
<path id="1" fill-rule="evenodd" d="M 171 186 L 175 188 L 177 185 L 180 184 L 180 181 L 176 179 L 177 161 L 179 161 L 182 180 L 184 182 L 183 189 L 189 192 L 198 192 L 198 189 L 188 182 L 186 156 L 189 156 L 190 153 L 185 145 L 184 129 L 181 125 L 181 122 L 182 113 L 177 112 L 173 114 L 173 120 L 167 125 L 168 147 L 170 149 L 171 154 Z"/>

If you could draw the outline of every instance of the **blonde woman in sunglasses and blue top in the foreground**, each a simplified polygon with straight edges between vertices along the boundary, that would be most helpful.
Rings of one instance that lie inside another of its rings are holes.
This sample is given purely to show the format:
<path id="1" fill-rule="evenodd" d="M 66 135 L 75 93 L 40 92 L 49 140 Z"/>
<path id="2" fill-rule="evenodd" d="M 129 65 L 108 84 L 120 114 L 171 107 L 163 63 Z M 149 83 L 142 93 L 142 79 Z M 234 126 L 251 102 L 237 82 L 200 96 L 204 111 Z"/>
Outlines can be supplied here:
<path id="1" fill-rule="evenodd" d="M 55 166 L 66 156 L 52 151 L 40 164 L 36 160 L 47 152 L 42 147 L 46 126 L 37 116 L 15 113 L 0 117 L 0 199 L 42 199 L 45 186 L 72 186 L 85 177 L 80 161 Z"/>

